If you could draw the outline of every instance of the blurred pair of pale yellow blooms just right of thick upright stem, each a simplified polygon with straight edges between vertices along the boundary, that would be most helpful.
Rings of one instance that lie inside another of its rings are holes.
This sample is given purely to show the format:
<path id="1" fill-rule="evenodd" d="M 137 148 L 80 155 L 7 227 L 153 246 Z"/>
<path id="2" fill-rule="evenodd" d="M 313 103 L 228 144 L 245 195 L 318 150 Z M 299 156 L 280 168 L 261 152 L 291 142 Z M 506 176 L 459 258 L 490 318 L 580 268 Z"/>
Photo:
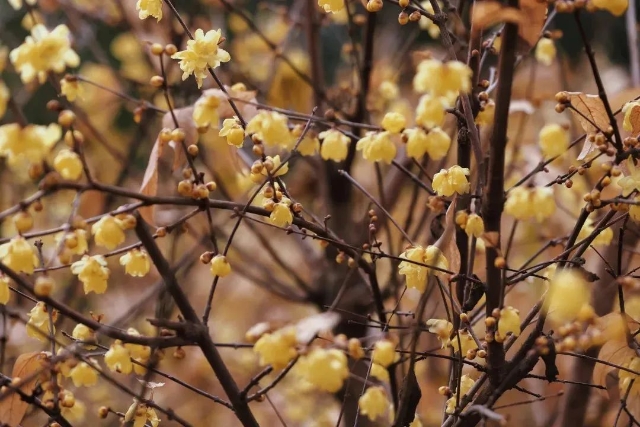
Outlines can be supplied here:
<path id="1" fill-rule="evenodd" d="M 542 222 L 556 211 L 553 188 L 512 188 L 507 194 L 504 211 L 521 221 L 534 218 L 536 221 Z"/>

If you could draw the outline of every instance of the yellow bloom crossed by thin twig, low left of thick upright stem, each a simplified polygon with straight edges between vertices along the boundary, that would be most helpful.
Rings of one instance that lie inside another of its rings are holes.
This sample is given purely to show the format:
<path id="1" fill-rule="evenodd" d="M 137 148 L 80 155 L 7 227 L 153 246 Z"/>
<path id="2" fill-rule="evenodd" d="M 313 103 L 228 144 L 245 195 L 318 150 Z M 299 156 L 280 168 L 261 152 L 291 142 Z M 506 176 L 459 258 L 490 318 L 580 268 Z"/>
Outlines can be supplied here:
<path id="1" fill-rule="evenodd" d="M 407 287 L 417 289 L 420 292 L 424 292 L 427 287 L 427 277 L 432 271 L 429 266 L 443 270 L 449 268 L 449 263 L 442 251 L 433 245 L 427 246 L 426 249 L 419 245 L 414 246 L 400 254 L 400 258 L 413 261 L 400 262 L 398 272 L 405 276 Z M 436 271 L 435 274 L 439 274 L 439 272 Z"/>

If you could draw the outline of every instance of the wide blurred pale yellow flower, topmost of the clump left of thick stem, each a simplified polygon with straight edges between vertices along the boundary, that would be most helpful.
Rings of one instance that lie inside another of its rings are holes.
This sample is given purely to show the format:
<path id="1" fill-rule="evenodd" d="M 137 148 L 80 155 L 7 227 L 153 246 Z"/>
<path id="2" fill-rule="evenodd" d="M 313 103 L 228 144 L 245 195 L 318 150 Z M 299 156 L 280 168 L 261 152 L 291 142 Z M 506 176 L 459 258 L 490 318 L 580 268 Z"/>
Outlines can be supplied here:
<path id="1" fill-rule="evenodd" d="M 471 92 L 472 75 L 473 71 L 464 62 L 425 59 L 418 64 L 413 88 L 416 92 L 434 96 L 457 96 Z"/>

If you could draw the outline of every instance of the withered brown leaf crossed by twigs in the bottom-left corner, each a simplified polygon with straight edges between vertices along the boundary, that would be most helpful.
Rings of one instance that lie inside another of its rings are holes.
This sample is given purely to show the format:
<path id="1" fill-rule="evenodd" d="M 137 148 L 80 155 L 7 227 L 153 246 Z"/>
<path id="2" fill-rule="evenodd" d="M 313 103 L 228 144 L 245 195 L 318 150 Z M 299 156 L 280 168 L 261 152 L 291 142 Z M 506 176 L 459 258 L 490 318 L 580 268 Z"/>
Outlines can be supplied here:
<path id="1" fill-rule="evenodd" d="M 13 365 L 12 378 L 27 379 L 42 369 L 42 360 L 45 353 L 34 351 L 18 356 Z M 24 393 L 30 394 L 38 381 L 37 375 L 25 382 L 20 387 Z M 18 427 L 24 418 L 29 404 L 22 400 L 18 393 L 11 393 L 9 397 L 0 402 L 0 420 L 10 427 Z"/>

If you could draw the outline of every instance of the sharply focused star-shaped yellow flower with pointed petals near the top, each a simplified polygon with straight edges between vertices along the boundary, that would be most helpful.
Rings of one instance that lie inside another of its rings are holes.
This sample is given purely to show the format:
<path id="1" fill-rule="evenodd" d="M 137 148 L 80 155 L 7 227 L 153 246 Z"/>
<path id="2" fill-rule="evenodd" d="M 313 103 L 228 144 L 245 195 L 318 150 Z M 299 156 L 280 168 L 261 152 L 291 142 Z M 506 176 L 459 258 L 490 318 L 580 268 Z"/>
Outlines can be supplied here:
<path id="1" fill-rule="evenodd" d="M 221 37 L 220 30 L 210 30 L 205 34 L 198 28 L 194 40 L 187 42 L 187 48 L 171 56 L 173 59 L 180 60 L 180 68 L 183 71 L 182 80 L 186 80 L 193 74 L 200 88 L 209 67 L 216 68 L 220 63 L 231 60 L 229 53 L 218 47 Z"/>

